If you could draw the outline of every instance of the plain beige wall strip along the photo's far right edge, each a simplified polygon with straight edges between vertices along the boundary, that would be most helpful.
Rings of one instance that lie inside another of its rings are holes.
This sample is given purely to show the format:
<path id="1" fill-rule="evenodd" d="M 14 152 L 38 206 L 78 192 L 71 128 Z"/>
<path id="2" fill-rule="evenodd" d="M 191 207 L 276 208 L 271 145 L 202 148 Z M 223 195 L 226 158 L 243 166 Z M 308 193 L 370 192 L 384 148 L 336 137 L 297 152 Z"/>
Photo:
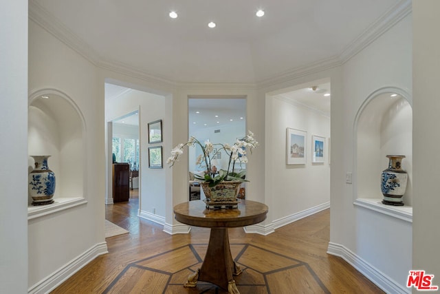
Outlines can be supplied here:
<path id="1" fill-rule="evenodd" d="M 440 286 L 440 197 L 437 162 L 440 154 L 440 1 L 412 1 L 414 40 L 414 235 L 412 260 L 414 269 L 434 275 L 433 284 Z M 434 35 L 433 35 L 434 34 Z"/>

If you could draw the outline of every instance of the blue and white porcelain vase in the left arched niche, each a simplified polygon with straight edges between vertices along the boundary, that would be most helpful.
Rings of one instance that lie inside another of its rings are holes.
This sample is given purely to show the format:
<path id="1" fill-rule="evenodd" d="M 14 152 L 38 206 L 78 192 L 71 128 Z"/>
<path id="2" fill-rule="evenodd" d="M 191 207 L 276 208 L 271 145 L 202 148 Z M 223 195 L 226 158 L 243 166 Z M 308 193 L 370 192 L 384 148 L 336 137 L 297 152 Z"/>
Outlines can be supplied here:
<path id="1" fill-rule="evenodd" d="M 50 155 L 31 156 L 34 158 L 35 167 L 29 174 L 29 196 L 32 205 L 45 205 L 54 203 L 55 174 L 47 166 Z"/>

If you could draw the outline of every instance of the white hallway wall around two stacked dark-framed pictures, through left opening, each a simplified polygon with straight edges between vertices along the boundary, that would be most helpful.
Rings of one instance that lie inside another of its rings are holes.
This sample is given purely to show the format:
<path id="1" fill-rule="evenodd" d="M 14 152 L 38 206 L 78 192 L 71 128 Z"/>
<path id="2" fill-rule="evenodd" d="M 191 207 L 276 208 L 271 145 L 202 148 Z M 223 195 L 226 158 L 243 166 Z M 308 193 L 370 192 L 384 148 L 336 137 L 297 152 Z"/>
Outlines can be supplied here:
<path id="1" fill-rule="evenodd" d="M 125 114 L 140 109 L 140 213 L 153 213 L 153 215 L 165 218 L 165 193 L 166 193 L 166 158 L 168 155 L 162 149 L 162 169 L 148 168 L 148 147 L 170 145 L 169 140 L 163 138 L 162 143 L 148 144 L 148 123 L 162 119 L 163 135 L 171 134 L 170 121 L 166 120 L 167 101 L 169 98 L 161 95 L 131 90 L 117 98 L 106 101 L 106 121 L 114 120 Z M 120 132 L 118 127 L 113 125 L 113 134 Z M 110 150 L 111 153 L 111 150 Z M 111 174 L 109 174 L 109 181 Z M 108 198 L 111 195 L 107 194 Z"/>

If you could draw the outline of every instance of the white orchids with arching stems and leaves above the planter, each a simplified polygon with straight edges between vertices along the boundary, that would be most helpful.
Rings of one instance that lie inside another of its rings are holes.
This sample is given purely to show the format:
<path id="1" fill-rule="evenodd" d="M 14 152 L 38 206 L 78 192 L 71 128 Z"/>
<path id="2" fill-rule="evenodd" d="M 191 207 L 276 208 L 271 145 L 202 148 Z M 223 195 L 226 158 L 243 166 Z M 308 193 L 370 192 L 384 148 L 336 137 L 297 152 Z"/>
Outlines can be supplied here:
<path id="1" fill-rule="evenodd" d="M 214 187 L 219 182 L 223 180 L 236 180 L 243 182 L 245 181 L 245 171 L 241 171 L 236 173 L 234 171 L 235 163 L 246 163 L 248 162 L 248 157 L 246 156 L 247 151 L 252 153 L 252 149 L 256 148 L 259 143 L 254 139 L 254 134 L 252 132 L 248 132 L 248 136 L 244 138 L 237 139 L 233 145 L 221 144 L 221 143 L 211 143 L 209 141 L 204 142 L 203 144 L 197 140 L 195 137 L 191 137 L 188 142 L 185 144 L 179 144 L 171 150 L 171 156 L 166 160 L 166 163 L 173 167 L 176 161 L 178 161 L 179 156 L 184 154 L 184 147 L 186 146 L 196 146 L 198 145 L 201 148 L 202 153 L 197 157 L 196 165 L 201 165 L 206 167 L 205 175 L 198 176 L 194 175 L 197 180 L 203 180 L 205 182 L 209 182 L 210 187 Z M 217 151 L 214 151 L 214 148 L 217 147 Z M 225 153 L 229 156 L 228 169 L 221 169 L 218 174 L 216 171 L 212 170 L 211 162 L 212 158 L 217 156 L 221 150 L 224 150 Z M 232 168 L 231 168 L 232 166 Z"/>

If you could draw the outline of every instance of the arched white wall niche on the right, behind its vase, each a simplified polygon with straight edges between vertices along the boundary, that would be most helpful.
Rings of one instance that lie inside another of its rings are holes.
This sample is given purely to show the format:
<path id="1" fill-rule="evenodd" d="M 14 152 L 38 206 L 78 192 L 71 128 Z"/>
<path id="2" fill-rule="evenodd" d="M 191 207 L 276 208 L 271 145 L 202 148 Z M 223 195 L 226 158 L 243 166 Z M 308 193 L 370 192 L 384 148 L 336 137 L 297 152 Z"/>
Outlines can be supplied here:
<path id="1" fill-rule="evenodd" d="M 408 210 L 412 206 L 410 94 L 397 87 L 383 87 L 371 93 L 358 110 L 353 129 L 355 132 L 353 136 L 355 140 L 355 173 L 353 174 L 355 202 L 367 200 L 384 205 L 381 203 L 380 175 L 388 167 L 386 155 L 399 154 L 406 156 L 402 167 L 408 172 L 408 186 L 403 200 L 404 209 Z M 410 212 L 412 213 L 412 209 Z"/>

